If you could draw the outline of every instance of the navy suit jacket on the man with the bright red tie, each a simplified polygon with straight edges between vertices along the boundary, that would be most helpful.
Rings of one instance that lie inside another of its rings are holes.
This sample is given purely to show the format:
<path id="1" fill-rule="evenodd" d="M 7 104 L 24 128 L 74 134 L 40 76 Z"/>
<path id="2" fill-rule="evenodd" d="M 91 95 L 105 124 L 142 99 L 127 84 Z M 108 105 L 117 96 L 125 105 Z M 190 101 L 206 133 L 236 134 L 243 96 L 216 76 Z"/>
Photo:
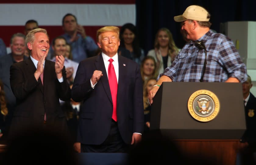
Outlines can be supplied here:
<path id="1" fill-rule="evenodd" d="M 142 79 L 136 62 L 118 56 L 118 63 L 117 123 L 123 141 L 130 144 L 134 132 L 143 132 Z M 94 70 L 102 71 L 103 76 L 92 89 L 90 79 Z M 88 145 L 103 143 L 110 131 L 113 104 L 101 54 L 80 62 L 71 97 L 76 102 L 84 100 L 80 110 L 78 141 Z"/>

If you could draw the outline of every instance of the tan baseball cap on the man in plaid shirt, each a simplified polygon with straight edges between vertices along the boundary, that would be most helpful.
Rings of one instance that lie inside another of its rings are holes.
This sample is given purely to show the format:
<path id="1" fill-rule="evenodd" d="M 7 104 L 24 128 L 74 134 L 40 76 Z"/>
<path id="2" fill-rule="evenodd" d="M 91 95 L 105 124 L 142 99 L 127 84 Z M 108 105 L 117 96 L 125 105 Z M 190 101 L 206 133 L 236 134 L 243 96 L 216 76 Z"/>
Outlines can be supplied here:
<path id="1" fill-rule="evenodd" d="M 174 21 L 176 22 L 186 21 L 188 19 L 208 22 L 210 20 L 210 14 L 207 10 L 205 10 L 205 8 L 201 6 L 191 5 L 187 7 L 183 15 L 178 15 L 174 17 Z"/>

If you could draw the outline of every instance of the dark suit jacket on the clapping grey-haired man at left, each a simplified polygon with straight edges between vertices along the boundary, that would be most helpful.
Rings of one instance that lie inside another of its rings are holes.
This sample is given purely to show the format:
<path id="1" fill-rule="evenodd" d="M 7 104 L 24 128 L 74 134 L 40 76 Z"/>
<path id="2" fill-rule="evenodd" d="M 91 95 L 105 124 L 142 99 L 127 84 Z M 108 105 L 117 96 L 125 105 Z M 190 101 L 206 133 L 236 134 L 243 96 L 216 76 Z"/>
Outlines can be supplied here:
<path id="1" fill-rule="evenodd" d="M 46 125 L 56 126 L 58 130 L 66 129 L 66 119 L 59 103 L 59 99 L 67 101 L 71 98 L 65 67 L 62 69 L 63 82 L 60 83 L 55 73 L 55 62 L 45 60 L 44 86 L 40 78 L 38 81 L 35 79 L 35 71 L 30 58 L 10 68 L 11 88 L 16 97 L 10 133 L 29 126 L 43 126 L 45 112 Z"/>

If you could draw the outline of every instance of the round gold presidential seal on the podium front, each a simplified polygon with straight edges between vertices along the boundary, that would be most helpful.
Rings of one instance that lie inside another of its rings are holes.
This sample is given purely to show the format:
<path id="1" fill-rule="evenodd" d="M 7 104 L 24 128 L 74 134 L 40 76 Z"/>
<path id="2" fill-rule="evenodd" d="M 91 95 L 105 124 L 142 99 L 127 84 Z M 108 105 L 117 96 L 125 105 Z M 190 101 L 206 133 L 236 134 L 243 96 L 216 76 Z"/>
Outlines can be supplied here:
<path id="1" fill-rule="evenodd" d="M 209 90 L 198 90 L 188 99 L 187 103 L 190 115 L 198 121 L 208 122 L 219 113 L 219 99 Z"/>

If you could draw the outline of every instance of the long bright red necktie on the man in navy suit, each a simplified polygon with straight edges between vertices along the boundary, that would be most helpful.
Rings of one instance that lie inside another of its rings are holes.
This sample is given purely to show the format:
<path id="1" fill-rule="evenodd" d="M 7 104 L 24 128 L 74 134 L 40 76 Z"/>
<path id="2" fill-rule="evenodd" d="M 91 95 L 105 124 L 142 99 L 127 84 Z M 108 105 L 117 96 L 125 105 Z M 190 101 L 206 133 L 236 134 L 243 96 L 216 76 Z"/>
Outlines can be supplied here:
<path id="1" fill-rule="evenodd" d="M 109 59 L 109 65 L 108 65 L 108 83 L 110 87 L 110 92 L 112 96 L 112 102 L 113 102 L 113 114 L 112 119 L 117 121 L 116 116 L 116 97 L 117 97 L 117 79 L 116 79 L 116 72 L 115 68 L 112 64 L 114 61 L 113 59 Z"/>

